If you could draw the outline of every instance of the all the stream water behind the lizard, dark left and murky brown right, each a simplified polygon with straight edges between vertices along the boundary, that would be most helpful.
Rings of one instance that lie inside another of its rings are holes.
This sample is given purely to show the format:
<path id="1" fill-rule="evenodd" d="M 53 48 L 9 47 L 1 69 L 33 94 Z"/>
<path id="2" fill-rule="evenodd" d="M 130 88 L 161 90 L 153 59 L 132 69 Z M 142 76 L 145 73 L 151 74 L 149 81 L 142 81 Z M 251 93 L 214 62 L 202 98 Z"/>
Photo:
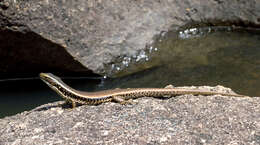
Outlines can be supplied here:
<path id="1" fill-rule="evenodd" d="M 127 63 L 128 69 L 138 73 L 105 80 L 64 81 L 83 91 L 168 84 L 223 85 L 240 94 L 260 96 L 260 32 L 257 30 L 189 29 L 177 34 L 167 33 L 152 49 L 149 61 Z M 143 68 L 148 69 L 140 71 Z M 127 69 L 117 75 L 122 76 L 125 72 Z M 62 100 L 39 79 L 0 81 L 0 98 L 0 118 Z"/>

